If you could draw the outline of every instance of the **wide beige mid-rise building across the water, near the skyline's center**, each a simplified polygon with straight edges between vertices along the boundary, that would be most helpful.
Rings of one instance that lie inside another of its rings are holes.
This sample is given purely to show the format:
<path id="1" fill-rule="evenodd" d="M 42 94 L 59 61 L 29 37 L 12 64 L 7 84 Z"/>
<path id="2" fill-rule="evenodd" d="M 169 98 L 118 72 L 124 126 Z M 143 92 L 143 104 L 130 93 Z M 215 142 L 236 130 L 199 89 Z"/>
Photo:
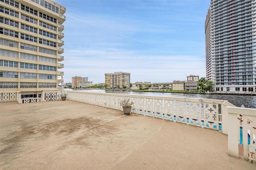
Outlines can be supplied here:
<path id="1" fill-rule="evenodd" d="M 105 83 L 108 88 L 130 87 L 130 73 L 114 72 L 105 74 Z"/>

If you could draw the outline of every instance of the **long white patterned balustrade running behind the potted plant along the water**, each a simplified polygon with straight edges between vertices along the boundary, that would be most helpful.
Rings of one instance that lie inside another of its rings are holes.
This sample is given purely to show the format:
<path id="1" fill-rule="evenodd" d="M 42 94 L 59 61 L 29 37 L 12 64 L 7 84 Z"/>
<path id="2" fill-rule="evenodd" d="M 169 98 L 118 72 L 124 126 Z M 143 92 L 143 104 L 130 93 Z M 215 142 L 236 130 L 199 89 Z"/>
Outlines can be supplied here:
<path id="1" fill-rule="evenodd" d="M 225 102 L 224 100 L 75 91 L 68 91 L 67 99 L 117 110 L 122 110 L 121 100 L 130 99 L 134 102 L 132 113 L 223 131 L 222 109 L 225 108 L 222 107 L 222 104 Z"/>

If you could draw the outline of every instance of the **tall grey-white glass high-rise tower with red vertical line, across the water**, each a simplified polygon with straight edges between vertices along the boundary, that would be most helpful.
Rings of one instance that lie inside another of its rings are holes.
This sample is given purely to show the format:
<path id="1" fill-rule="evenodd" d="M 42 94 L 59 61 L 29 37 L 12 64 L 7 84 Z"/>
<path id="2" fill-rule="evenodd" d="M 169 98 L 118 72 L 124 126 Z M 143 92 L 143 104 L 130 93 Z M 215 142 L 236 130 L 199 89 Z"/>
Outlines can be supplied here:
<path id="1" fill-rule="evenodd" d="M 211 0 L 206 78 L 216 91 L 256 91 L 256 0 Z"/>

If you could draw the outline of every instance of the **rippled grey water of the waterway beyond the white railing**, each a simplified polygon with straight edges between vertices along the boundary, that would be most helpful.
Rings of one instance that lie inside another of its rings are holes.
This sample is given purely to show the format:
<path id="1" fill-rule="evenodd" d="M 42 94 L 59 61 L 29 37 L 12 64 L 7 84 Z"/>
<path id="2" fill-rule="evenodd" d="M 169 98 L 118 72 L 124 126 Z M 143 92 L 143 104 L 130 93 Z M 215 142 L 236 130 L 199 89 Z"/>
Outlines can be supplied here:
<path id="1" fill-rule="evenodd" d="M 164 97 L 186 97 L 196 99 L 218 99 L 227 100 L 229 103 L 237 107 L 256 108 L 256 96 L 245 95 L 209 95 L 209 94 L 191 94 L 191 93 L 164 93 L 164 92 L 137 92 L 128 90 L 105 90 L 105 89 L 65 89 L 67 91 L 86 91 L 96 93 L 118 93 L 130 95 L 146 95 L 146 96 L 164 96 Z"/>

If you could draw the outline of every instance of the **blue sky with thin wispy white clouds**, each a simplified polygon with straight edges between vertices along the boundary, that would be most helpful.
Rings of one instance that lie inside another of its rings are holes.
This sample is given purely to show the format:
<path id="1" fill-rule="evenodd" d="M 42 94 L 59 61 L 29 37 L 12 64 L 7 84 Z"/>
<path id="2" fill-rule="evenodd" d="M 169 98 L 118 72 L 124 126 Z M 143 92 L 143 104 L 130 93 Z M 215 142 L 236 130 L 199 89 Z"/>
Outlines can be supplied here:
<path id="1" fill-rule="evenodd" d="M 131 83 L 205 77 L 210 0 L 55 0 L 66 7 L 64 82 L 130 73 Z"/>

